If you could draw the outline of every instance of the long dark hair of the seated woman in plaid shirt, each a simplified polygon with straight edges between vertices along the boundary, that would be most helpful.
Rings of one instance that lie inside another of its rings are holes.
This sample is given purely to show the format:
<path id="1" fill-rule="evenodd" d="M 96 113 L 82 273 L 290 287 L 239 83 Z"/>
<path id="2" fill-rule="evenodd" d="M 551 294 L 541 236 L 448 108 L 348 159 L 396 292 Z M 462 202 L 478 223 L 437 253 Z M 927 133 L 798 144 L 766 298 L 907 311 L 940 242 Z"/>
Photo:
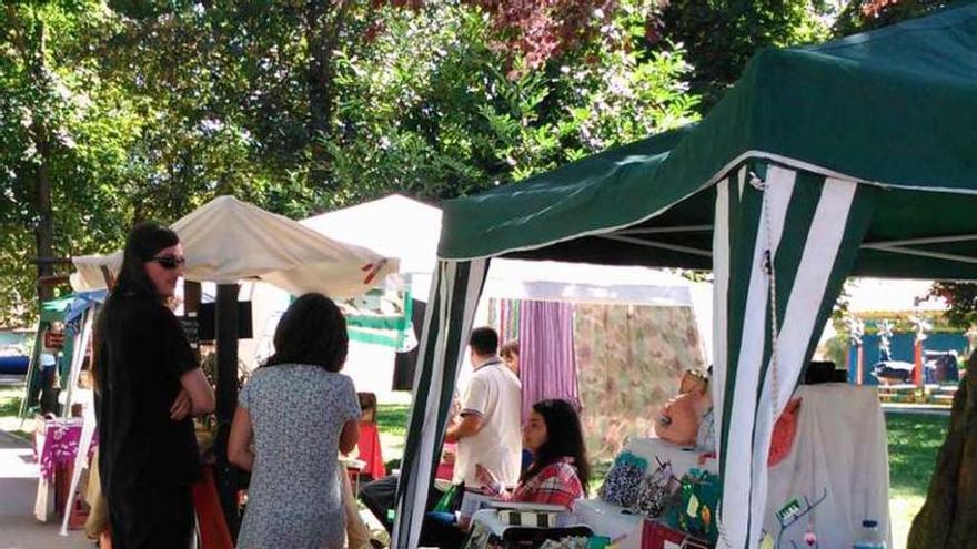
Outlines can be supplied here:
<path id="1" fill-rule="evenodd" d="M 576 408 L 566 400 L 555 398 L 540 400 L 533 405 L 533 411 L 543 416 L 543 421 L 546 424 L 546 441 L 536 449 L 533 464 L 523 472 L 520 482 L 535 477 L 547 465 L 571 457 L 581 487 L 586 494 L 591 481 L 591 465 L 587 461 L 587 448 L 584 445 L 584 434 Z"/>

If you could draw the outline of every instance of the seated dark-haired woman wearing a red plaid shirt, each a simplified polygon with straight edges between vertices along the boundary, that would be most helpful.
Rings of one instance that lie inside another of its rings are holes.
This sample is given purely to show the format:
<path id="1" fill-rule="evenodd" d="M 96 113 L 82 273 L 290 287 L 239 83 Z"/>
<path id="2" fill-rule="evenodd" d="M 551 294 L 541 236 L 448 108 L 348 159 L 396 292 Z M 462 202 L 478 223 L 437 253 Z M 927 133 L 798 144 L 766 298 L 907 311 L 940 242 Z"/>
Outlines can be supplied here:
<path id="1" fill-rule="evenodd" d="M 512 492 L 505 491 L 488 469 L 477 465 L 475 478 L 483 491 L 508 501 L 562 505 L 586 497 L 591 468 L 580 417 L 566 400 L 541 400 L 533 405 L 523 426 L 523 447 L 533 462 Z"/>

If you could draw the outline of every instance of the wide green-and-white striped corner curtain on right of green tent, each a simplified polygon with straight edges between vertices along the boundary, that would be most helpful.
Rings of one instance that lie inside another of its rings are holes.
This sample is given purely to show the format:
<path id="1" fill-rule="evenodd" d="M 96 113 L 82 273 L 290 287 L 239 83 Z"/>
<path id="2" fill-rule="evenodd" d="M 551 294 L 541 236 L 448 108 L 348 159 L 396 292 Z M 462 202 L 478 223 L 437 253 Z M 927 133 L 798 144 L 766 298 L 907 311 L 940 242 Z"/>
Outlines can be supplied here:
<path id="1" fill-rule="evenodd" d="M 721 547 L 759 546 L 774 420 L 852 270 L 875 192 L 766 164 L 747 164 L 717 184 L 713 398 L 724 479 Z"/>

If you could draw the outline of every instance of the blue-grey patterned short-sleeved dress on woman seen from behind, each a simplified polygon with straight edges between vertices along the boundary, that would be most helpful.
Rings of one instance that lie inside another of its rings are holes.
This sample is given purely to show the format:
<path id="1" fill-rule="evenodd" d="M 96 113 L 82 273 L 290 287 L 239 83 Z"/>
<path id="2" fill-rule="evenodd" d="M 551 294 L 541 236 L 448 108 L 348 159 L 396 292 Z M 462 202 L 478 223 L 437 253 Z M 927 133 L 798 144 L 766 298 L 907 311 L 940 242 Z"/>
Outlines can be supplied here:
<path id="1" fill-rule="evenodd" d="M 343 424 L 360 417 L 353 382 L 318 366 L 259 368 L 241 390 L 254 467 L 239 548 L 342 548 L 336 476 Z"/>

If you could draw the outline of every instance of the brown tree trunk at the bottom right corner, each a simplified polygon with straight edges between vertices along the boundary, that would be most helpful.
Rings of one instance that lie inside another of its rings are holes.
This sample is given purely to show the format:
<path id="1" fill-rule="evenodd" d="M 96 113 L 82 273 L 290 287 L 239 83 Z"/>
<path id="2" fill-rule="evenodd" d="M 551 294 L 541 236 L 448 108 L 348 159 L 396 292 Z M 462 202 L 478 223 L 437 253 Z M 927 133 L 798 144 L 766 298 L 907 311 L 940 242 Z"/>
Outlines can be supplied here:
<path id="1" fill-rule="evenodd" d="M 977 549 L 977 352 L 954 396 L 950 428 L 907 549 Z"/>

